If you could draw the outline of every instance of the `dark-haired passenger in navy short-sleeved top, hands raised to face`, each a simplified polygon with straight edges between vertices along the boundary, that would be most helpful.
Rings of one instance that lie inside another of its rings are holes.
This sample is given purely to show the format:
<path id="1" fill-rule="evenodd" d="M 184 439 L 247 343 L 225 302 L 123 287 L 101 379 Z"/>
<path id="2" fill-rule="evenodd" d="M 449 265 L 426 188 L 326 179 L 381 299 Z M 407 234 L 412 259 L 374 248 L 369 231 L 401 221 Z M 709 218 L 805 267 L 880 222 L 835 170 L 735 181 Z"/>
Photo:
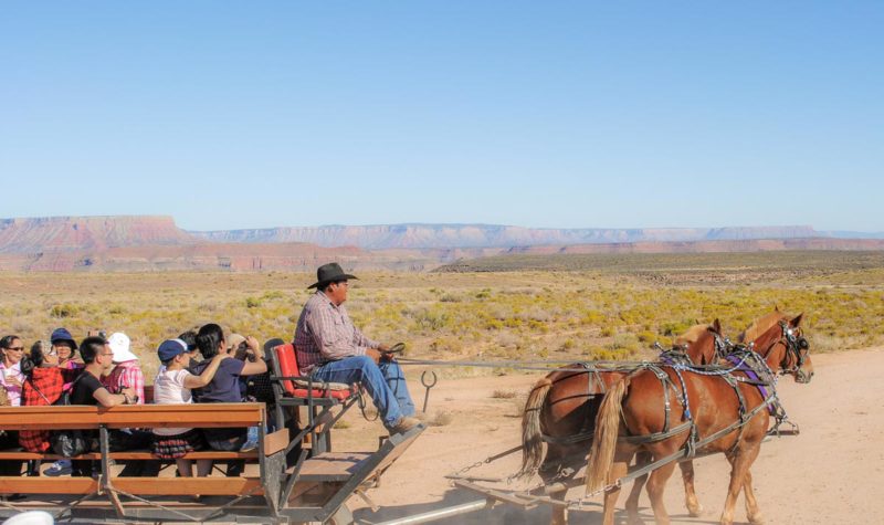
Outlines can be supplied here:
<path id="1" fill-rule="evenodd" d="M 199 389 L 199 393 L 196 396 L 197 402 L 242 402 L 240 377 L 253 376 L 267 370 L 267 365 L 262 358 L 263 353 L 261 346 L 257 344 L 257 339 L 248 337 L 245 344 L 255 355 L 255 360 L 223 360 L 211 382 Z M 200 328 L 197 334 L 197 346 L 199 346 L 204 360 L 191 368 L 193 374 L 202 375 L 202 371 L 209 366 L 211 359 L 218 354 L 232 355 L 224 339 L 223 330 L 213 323 Z M 202 429 L 202 434 L 206 437 L 206 441 L 211 449 L 234 452 L 243 450 L 249 438 L 249 429 Z M 228 475 L 239 475 L 243 466 L 244 462 L 242 461 L 230 462 Z"/>

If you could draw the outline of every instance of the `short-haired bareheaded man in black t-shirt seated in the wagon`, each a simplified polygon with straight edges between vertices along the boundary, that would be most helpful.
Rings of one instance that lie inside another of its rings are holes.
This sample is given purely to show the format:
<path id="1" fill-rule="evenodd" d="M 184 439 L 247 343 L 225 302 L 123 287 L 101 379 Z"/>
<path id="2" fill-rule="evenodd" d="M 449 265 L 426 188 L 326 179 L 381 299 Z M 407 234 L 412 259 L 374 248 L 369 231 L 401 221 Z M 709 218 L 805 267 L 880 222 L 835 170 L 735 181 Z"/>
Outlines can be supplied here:
<path id="1" fill-rule="evenodd" d="M 112 393 L 102 385 L 101 377 L 103 372 L 114 364 L 114 351 L 104 338 L 86 337 L 83 339 L 80 345 L 80 355 L 83 357 L 85 369 L 74 380 L 74 386 L 71 390 L 71 405 L 101 405 L 102 407 L 135 405 L 135 390 L 133 388 L 123 388 L 118 393 Z M 147 434 L 147 432 L 141 433 Z M 110 439 L 115 440 L 114 438 L 114 432 L 112 432 Z M 122 439 L 115 441 L 118 442 L 116 449 L 123 450 L 126 445 L 134 444 L 135 440 L 130 440 L 125 444 L 122 443 Z M 146 447 L 149 443 L 149 435 L 144 441 Z M 90 461 L 73 461 L 72 463 L 72 475 L 88 476 L 92 474 Z M 46 473 L 49 474 L 49 472 Z"/>

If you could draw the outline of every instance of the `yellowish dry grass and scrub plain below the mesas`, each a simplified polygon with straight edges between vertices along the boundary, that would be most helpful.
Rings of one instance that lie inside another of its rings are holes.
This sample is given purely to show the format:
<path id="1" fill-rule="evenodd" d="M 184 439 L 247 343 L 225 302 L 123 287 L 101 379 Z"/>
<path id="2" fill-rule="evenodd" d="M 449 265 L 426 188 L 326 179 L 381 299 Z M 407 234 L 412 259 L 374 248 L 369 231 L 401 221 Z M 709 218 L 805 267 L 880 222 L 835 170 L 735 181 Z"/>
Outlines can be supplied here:
<path id="1" fill-rule="evenodd" d="M 441 360 L 644 357 L 654 340 L 665 345 L 697 321 L 719 317 L 736 336 L 775 305 L 806 313 L 813 351 L 884 342 L 884 259 L 864 255 L 856 267 L 841 253 L 831 261 L 777 254 L 767 265 L 758 254 L 735 256 L 699 254 L 694 266 L 687 255 L 618 256 L 619 266 L 597 271 L 366 274 L 347 306 L 371 337 L 406 342 L 408 357 Z M 730 279 L 745 274 L 751 280 Z M 151 380 L 156 346 L 207 322 L 262 340 L 291 339 L 313 280 L 281 272 L 0 274 L 0 332 L 28 345 L 59 326 L 76 337 L 126 332 Z M 446 378 L 512 369 L 436 371 Z"/>

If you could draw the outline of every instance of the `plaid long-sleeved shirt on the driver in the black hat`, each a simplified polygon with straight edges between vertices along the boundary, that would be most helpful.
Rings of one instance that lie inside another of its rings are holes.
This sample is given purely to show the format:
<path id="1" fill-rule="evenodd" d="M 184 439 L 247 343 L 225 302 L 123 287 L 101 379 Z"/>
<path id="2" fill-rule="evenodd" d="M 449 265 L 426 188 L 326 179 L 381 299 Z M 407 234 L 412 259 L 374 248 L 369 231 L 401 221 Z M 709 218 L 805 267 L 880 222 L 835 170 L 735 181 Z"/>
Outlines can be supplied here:
<path id="1" fill-rule="evenodd" d="M 364 356 L 378 346 L 354 326 L 344 305 L 335 306 L 322 290 L 307 300 L 297 319 L 295 349 L 305 376 L 328 361 Z"/>

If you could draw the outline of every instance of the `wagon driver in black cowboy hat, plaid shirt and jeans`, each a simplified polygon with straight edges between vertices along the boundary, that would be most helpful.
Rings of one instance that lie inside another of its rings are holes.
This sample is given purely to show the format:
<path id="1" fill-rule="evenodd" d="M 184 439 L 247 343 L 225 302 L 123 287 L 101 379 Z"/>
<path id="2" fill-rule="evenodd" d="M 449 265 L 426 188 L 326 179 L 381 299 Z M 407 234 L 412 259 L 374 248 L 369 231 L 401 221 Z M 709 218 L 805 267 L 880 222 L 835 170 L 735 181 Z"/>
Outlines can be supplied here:
<path id="1" fill-rule="evenodd" d="M 307 300 L 295 329 L 297 364 L 303 375 L 326 382 L 361 382 L 392 433 L 406 432 L 420 421 L 411 416 L 414 403 L 406 386 L 402 368 L 387 345 L 373 342 L 357 328 L 344 302 L 348 280 L 338 263 L 316 271 L 317 288 Z"/>

